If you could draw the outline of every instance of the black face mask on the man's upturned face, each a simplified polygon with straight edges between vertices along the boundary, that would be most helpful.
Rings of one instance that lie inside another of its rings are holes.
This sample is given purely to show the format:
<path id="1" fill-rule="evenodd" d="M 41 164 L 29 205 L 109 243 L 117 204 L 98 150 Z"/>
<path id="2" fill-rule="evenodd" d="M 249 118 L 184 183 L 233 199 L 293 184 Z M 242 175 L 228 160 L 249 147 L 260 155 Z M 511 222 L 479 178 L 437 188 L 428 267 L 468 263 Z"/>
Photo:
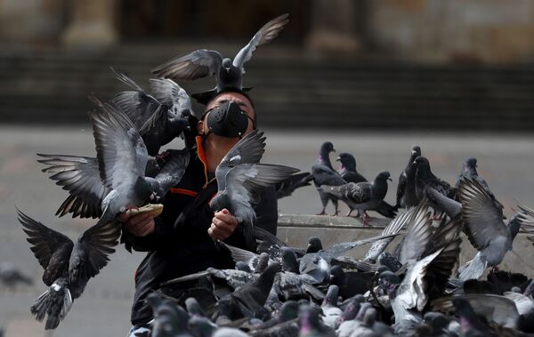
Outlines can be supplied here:
<path id="1" fill-rule="evenodd" d="M 208 133 L 222 137 L 239 139 L 247 131 L 248 119 L 254 120 L 247 115 L 245 111 L 239 108 L 239 104 L 233 101 L 228 101 L 220 107 L 213 108 L 207 115 Z"/>

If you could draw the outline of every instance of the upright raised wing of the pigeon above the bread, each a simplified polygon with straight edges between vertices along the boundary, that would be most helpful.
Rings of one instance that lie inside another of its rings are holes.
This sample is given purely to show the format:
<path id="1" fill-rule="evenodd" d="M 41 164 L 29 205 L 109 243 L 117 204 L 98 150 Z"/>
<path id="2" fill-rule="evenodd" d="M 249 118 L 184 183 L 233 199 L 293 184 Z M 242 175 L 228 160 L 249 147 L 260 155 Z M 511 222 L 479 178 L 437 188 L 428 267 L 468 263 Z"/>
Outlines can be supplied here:
<path id="1" fill-rule="evenodd" d="M 134 185 L 137 177 L 144 176 L 148 161 L 141 135 L 117 106 L 99 100 L 96 103 L 98 109 L 89 116 L 101 179 L 110 189 Z"/>

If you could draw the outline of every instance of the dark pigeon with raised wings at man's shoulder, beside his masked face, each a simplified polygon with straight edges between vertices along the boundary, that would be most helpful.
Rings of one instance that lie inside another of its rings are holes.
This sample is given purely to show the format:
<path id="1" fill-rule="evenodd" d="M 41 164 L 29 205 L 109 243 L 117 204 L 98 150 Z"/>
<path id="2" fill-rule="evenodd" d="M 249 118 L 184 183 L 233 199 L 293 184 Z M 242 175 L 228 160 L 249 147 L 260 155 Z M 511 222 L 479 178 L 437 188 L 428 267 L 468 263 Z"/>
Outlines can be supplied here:
<path id="1" fill-rule="evenodd" d="M 159 99 L 146 93 L 123 71 L 111 68 L 113 74 L 134 91 L 120 92 L 111 100 L 130 118 L 142 135 L 150 156 L 182 132 L 190 130 L 191 103 L 187 93 L 171 80 L 153 80 Z"/>

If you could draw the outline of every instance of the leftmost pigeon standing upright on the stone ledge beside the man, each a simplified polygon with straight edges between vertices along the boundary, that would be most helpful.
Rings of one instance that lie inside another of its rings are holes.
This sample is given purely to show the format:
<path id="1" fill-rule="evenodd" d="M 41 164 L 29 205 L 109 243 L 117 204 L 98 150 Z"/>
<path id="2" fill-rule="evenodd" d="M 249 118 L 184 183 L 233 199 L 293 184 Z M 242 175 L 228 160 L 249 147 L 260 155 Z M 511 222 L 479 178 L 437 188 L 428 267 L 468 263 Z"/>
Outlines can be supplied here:
<path id="1" fill-rule="evenodd" d="M 336 171 L 332 167 L 329 157 L 330 152 L 336 152 L 336 149 L 334 149 L 334 145 L 330 141 L 322 143 L 319 150 L 319 156 L 317 158 L 317 164 L 314 164 L 312 166 L 313 183 L 319 192 L 320 201 L 323 206 L 321 212 L 318 215 L 326 214 L 325 211 L 328 205 L 328 200 L 331 200 L 332 204 L 334 204 L 334 207 L 336 208 L 336 212 L 334 213 L 334 215 L 337 215 L 338 213 L 337 197 L 324 192 L 322 189 L 320 189 L 320 187 L 322 185 L 340 186 L 346 183 L 346 181 L 341 178 L 341 175 L 339 175 L 339 173 L 336 173 Z"/>

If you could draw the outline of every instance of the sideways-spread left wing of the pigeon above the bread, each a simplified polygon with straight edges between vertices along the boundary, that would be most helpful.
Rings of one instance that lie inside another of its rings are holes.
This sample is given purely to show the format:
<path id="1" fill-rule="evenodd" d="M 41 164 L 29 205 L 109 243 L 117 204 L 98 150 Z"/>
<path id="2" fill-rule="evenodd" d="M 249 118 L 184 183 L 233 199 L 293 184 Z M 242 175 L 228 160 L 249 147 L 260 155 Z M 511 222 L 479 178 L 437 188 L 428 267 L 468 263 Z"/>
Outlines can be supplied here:
<path id="1" fill-rule="evenodd" d="M 72 213 L 72 217 L 97 218 L 101 216 L 101 201 L 108 189 L 101 181 L 98 160 L 87 156 L 61 156 L 37 154 L 45 159 L 37 160 L 49 167 L 44 173 L 62 189 L 69 191 L 69 197 L 61 204 L 56 215 Z"/>

